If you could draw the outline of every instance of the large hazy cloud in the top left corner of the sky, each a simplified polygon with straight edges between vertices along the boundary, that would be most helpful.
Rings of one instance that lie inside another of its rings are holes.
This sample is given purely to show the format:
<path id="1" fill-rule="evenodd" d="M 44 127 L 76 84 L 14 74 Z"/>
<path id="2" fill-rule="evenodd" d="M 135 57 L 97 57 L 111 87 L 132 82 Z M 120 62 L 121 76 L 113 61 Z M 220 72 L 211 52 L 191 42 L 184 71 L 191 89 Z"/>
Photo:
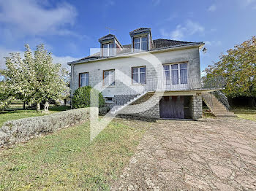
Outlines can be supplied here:
<path id="1" fill-rule="evenodd" d="M 75 7 L 70 4 L 59 4 L 46 9 L 37 0 L 0 0 L 0 23 L 24 34 L 76 35 L 65 29 L 75 23 Z"/>

